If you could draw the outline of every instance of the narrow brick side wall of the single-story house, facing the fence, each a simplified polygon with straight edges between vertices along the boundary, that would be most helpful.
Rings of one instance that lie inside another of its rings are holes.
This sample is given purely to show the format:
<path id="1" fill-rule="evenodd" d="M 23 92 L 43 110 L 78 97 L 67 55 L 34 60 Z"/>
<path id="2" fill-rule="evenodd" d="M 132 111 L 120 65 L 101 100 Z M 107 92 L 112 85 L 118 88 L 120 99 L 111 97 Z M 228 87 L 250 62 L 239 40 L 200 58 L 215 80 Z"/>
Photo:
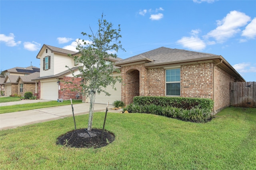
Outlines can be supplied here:
<path id="1" fill-rule="evenodd" d="M 214 67 L 214 110 L 215 112 L 230 106 L 229 83 L 234 82 L 234 77 L 222 68 Z"/>

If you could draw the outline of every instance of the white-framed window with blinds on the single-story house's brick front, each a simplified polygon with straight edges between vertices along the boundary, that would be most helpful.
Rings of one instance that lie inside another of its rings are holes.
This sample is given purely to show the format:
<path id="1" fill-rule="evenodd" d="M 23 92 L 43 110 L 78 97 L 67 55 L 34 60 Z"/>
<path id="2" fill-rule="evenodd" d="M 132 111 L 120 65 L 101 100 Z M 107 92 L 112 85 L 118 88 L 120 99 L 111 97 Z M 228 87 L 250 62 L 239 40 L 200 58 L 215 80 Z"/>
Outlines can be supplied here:
<path id="1" fill-rule="evenodd" d="M 180 68 L 166 70 L 166 96 L 180 96 Z"/>

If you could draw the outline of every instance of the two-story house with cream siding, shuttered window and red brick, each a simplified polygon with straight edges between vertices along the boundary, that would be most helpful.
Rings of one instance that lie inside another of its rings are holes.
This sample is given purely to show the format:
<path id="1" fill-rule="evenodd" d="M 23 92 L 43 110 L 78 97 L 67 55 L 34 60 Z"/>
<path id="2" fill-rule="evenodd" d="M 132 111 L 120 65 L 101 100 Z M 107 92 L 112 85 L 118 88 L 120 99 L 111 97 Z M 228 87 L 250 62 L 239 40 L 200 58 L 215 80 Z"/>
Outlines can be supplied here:
<path id="1" fill-rule="evenodd" d="M 42 46 L 36 56 L 37 59 L 40 59 L 40 76 L 34 79 L 39 84 L 38 98 L 47 100 L 70 100 L 70 98 L 76 99 L 79 95 L 78 98 L 82 99 L 82 95 L 79 94 L 81 90 L 71 90 L 79 87 L 82 83 L 82 77 L 74 78 L 68 69 L 70 68 L 74 71 L 75 75 L 78 75 L 80 74 L 78 66 L 81 65 L 74 61 L 72 57 L 69 57 L 68 54 L 72 56 L 79 56 L 76 51 L 70 51 L 45 44 Z M 118 58 L 111 60 L 118 61 L 121 59 Z M 66 66 L 68 66 L 68 68 Z M 66 83 L 69 81 L 72 81 L 72 83 Z M 119 86 L 118 98 L 115 98 L 115 100 L 121 100 L 121 85 L 119 84 Z M 113 96 L 116 95 L 114 94 Z M 106 103 L 108 101 L 107 97 L 105 95 L 98 95 L 98 98 L 96 96 L 95 102 Z M 104 102 L 102 102 L 102 98 L 106 99 L 106 101 L 104 100 Z M 84 99 L 83 101 L 88 102 L 88 99 Z"/>

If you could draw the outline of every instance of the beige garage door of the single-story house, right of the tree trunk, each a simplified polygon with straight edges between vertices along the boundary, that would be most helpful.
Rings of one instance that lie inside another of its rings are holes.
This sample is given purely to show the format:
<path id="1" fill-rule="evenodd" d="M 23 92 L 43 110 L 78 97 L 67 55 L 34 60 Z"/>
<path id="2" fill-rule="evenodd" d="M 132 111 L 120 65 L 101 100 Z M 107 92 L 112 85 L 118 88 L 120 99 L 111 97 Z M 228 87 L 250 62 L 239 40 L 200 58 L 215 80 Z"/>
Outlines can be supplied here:
<path id="1" fill-rule="evenodd" d="M 105 96 L 104 93 L 97 94 L 95 96 L 95 103 L 98 104 L 113 104 L 115 100 L 121 100 L 121 83 L 116 82 L 116 91 L 112 89 L 112 86 L 107 86 L 106 91 L 110 93 L 110 96 Z"/>

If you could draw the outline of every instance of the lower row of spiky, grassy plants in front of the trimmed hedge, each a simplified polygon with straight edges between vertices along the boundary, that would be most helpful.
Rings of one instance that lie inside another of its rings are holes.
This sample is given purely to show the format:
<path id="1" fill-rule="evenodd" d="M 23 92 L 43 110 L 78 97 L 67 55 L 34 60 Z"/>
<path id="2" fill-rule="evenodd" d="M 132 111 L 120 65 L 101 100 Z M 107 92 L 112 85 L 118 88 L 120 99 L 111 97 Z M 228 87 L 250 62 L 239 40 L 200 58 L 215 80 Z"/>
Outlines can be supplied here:
<path id="1" fill-rule="evenodd" d="M 197 123 L 208 122 L 212 119 L 211 111 L 207 109 L 200 109 L 198 106 L 187 110 L 171 106 L 162 107 L 154 104 L 129 104 L 126 108 L 124 108 L 124 111 L 125 110 L 127 110 L 129 113 L 150 113 Z"/>

